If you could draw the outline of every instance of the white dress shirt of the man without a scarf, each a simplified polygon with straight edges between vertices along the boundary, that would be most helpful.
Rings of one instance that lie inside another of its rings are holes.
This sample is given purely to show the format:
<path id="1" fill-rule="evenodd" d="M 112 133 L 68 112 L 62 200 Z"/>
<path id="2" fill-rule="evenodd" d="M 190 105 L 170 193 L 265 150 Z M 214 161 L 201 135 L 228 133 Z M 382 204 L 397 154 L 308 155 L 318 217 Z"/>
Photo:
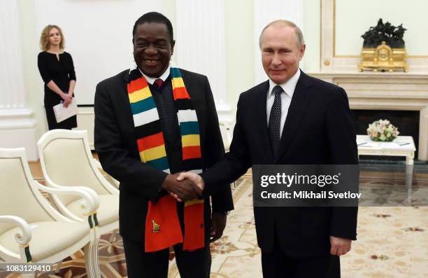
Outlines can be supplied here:
<path id="1" fill-rule="evenodd" d="M 283 88 L 281 92 L 281 122 L 280 122 L 280 138 L 283 134 L 285 119 L 287 118 L 288 109 L 290 108 L 290 103 L 294 94 L 294 89 L 296 89 L 297 81 L 299 81 L 300 69 L 290 78 L 287 82 L 282 84 L 276 84 L 269 78 L 269 90 L 267 92 L 267 102 L 266 102 L 266 113 L 267 113 L 267 123 L 269 127 L 269 116 L 271 116 L 271 109 L 273 106 L 273 101 L 275 100 L 275 94 L 273 94 L 273 87 L 280 85 Z"/>

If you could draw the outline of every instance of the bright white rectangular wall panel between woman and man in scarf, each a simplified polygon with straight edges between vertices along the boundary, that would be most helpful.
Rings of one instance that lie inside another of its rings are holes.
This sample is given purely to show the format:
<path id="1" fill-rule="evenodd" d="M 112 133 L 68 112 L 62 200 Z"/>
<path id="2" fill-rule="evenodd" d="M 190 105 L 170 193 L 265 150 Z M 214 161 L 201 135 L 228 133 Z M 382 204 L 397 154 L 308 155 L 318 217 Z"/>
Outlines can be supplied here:
<path id="1" fill-rule="evenodd" d="M 78 104 L 94 104 L 99 81 L 128 69 L 132 55 L 132 27 L 149 11 L 164 13 L 162 1 L 38 0 L 34 14 L 36 33 L 48 24 L 62 28 L 66 51 L 76 68 Z M 42 88 L 42 87 L 40 87 Z"/>

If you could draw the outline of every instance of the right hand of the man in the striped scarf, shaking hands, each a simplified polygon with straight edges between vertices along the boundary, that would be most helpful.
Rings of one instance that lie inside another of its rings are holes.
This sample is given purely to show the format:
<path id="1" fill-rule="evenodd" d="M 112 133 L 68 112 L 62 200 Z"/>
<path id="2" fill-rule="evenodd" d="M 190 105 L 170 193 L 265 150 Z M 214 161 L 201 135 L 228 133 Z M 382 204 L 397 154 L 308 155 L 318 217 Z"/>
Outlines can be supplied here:
<path id="1" fill-rule="evenodd" d="M 202 195 L 202 190 L 199 186 L 192 183 L 190 180 L 178 181 L 178 174 L 169 174 L 166 176 L 162 189 L 172 193 L 176 199 L 184 202 L 197 199 Z"/>

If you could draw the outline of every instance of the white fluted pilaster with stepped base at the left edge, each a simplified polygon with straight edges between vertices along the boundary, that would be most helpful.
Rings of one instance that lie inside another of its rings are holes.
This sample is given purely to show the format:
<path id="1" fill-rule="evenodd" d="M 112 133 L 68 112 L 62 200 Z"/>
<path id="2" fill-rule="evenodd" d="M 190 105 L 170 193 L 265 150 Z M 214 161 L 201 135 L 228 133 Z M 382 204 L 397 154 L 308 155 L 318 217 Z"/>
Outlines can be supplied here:
<path id="1" fill-rule="evenodd" d="M 0 1 L 0 148 L 24 147 L 29 160 L 37 160 L 33 111 L 27 108 L 20 44 L 17 1 Z"/>

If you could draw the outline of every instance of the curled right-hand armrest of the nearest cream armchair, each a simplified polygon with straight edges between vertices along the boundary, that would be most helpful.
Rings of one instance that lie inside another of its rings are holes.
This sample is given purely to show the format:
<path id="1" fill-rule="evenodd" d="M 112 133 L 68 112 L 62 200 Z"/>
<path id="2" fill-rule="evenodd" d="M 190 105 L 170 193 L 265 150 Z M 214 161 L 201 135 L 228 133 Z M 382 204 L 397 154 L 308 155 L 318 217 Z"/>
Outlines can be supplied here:
<path id="1" fill-rule="evenodd" d="M 83 214 L 90 215 L 97 213 L 97 210 L 99 208 L 99 197 L 97 193 L 91 189 L 87 188 L 85 186 L 73 186 L 73 187 L 66 187 L 66 186 L 58 186 L 55 185 L 55 187 L 51 188 L 48 186 L 43 186 L 41 183 L 38 183 L 37 181 L 36 185 L 38 189 L 41 189 L 47 193 L 52 194 L 73 194 L 73 195 L 79 195 L 83 198 L 83 201 L 80 203 L 80 208 L 83 210 Z"/>

